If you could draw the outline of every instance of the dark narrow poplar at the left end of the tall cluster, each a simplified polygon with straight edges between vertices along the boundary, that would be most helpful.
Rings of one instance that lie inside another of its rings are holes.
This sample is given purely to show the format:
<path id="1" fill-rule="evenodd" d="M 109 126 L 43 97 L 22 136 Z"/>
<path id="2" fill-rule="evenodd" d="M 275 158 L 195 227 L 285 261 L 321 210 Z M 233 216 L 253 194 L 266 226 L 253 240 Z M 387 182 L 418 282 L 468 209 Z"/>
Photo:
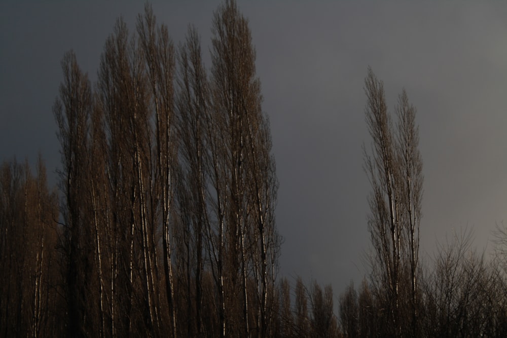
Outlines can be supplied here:
<path id="1" fill-rule="evenodd" d="M 87 144 L 89 119 L 92 111 L 91 85 L 78 66 L 74 52 L 62 60 L 63 82 L 60 98 L 55 100 L 53 112 L 58 124 L 61 145 L 61 190 L 65 196 L 62 205 L 64 240 L 62 248 L 67 260 L 66 298 L 69 336 L 85 335 L 83 322 L 87 309 L 87 282 L 90 281 L 89 247 L 91 235 L 86 226 L 86 211 L 80 199 L 86 196 L 88 167 Z"/>

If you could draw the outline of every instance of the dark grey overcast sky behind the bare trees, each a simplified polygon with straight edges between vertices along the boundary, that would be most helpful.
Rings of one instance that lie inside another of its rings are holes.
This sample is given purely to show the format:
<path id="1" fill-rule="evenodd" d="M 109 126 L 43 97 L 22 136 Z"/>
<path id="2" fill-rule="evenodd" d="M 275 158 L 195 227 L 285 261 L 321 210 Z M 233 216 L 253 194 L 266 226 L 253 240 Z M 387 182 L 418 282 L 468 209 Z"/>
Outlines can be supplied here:
<path id="1" fill-rule="evenodd" d="M 210 47 L 219 2 L 154 2 L 177 44 L 189 23 Z M 281 274 L 335 293 L 368 272 L 361 145 L 372 66 L 392 110 L 403 88 L 417 107 L 424 168 L 421 251 L 473 227 L 479 249 L 507 222 L 507 3 L 239 2 L 257 50 L 263 109 L 280 181 Z M 0 161 L 41 152 L 59 166 L 52 104 L 60 60 L 74 49 L 96 78 L 115 19 L 133 29 L 141 2 L 0 3 Z M 209 66 L 209 62 L 207 64 Z M 427 260 L 427 259 L 426 259 Z"/>

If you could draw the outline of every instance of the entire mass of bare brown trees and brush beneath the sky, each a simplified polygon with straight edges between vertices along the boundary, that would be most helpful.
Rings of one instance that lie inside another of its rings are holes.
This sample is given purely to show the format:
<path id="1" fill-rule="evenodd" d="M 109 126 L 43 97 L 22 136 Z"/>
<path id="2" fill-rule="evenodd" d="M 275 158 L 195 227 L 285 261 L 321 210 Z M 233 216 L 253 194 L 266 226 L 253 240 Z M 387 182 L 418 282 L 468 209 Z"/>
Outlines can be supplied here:
<path id="1" fill-rule="evenodd" d="M 393 121 L 371 69 L 371 274 L 338 314 L 330 285 L 277 278 L 270 127 L 234 1 L 210 53 L 147 6 L 134 32 L 116 22 L 94 84 L 64 55 L 60 199 L 42 160 L 0 168 L 0 336 L 507 336 L 507 230 L 492 259 L 464 234 L 420 263 L 416 109 L 403 91 Z"/>

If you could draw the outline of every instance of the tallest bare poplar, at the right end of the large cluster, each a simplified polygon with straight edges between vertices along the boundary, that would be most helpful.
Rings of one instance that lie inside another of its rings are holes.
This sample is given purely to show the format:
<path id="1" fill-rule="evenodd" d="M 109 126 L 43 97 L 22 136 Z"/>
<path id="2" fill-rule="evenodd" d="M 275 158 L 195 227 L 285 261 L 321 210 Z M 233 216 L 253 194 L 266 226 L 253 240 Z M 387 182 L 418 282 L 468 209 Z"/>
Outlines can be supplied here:
<path id="1" fill-rule="evenodd" d="M 255 329 L 263 336 L 270 322 L 268 305 L 274 293 L 269 290 L 274 289 L 280 244 L 274 224 L 277 180 L 269 124 L 261 109 L 248 22 L 233 1 L 215 12 L 212 33 L 211 120 L 215 134 L 209 139 L 212 153 L 218 152 L 211 155 L 213 171 L 219 175 L 215 176 L 214 190 L 224 194 L 222 187 L 226 187 L 225 200 L 213 202 L 220 209 L 216 214 L 222 214 L 216 217 L 221 224 L 218 251 L 224 255 L 227 250 L 229 291 L 235 292 L 232 286 L 241 282 L 241 333 L 249 335 Z M 257 299 L 249 299 L 250 278 L 256 282 Z M 258 309 L 250 311 L 255 304 Z M 250 312 L 258 313 L 255 328 L 249 322 Z"/>

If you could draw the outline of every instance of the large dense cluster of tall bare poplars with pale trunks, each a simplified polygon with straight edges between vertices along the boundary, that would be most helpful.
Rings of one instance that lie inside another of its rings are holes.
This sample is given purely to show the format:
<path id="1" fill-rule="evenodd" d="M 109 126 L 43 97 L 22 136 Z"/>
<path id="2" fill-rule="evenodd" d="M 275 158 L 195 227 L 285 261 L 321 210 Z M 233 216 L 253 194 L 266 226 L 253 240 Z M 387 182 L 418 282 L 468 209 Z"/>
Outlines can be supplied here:
<path id="1" fill-rule="evenodd" d="M 234 2 L 212 32 L 210 74 L 197 31 L 174 48 L 150 6 L 133 34 L 117 21 L 93 89 L 62 61 L 69 336 L 271 330 L 278 183 L 255 50 Z"/>

